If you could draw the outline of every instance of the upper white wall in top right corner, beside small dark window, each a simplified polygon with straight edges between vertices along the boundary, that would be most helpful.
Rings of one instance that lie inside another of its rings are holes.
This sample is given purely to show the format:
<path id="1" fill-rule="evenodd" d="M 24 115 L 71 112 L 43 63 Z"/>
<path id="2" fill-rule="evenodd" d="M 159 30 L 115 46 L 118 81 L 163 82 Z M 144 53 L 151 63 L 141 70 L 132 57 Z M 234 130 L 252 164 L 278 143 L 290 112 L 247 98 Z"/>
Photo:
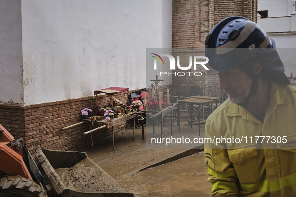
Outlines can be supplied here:
<path id="1" fill-rule="evenodd" d="M 295 0 L 258 0 L 258 11 L 268 10 L 268 17 L 289 16 Z"/>

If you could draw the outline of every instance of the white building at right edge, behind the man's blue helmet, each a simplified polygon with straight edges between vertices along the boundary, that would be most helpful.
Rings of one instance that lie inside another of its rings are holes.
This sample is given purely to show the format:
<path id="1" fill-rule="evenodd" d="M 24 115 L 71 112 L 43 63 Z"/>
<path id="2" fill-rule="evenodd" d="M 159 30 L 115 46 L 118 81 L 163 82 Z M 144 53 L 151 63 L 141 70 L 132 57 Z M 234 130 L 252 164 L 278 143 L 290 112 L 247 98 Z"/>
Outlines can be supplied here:
<path id="1" fill-rule="evenodd" d="M 295 0 L 258 0 L 258 24 L 275 40 L 288 77 L 296 74 Z M 267 16 L 267 17 L 266 17 Z"/>

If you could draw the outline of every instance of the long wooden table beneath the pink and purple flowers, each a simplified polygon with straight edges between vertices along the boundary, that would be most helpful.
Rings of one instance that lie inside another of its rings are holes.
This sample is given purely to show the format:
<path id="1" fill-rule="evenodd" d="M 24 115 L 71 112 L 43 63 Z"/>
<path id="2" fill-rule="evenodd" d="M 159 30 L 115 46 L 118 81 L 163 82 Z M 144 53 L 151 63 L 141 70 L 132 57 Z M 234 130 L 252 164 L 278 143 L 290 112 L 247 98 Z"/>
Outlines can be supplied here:
<path id="1" fill-rule="evenodd" d="M 134 118 L 134 133 L 135 133 L 135 118 L 138 116 L 139 114 L 137 112 L 133 112 L 133 113 L 130 113 L 130 114 L 124 114 L 122 117 L 120 118 L 114 118 L 113 120 L 109 120 L 107 121 L 106 119 L 103 119 L 101 121 L 98 121 L 96 122 L 96 125 L 102 125 L 98 128 L 95 128 L 95 129 L 92 129 L 88 132 L 85 132 L 84 134 L 88 134 L 90 133 L 91 134 L 91 141 L 92 141 L 92 146 L 93 146 L 93 138 L 92 138 L 92 132 L 95 131 L 95 130 L 99 130 L 101 128 L 111 128 L 112 127 L 112 135 L 113 135 L 113 151 L 115 150 L 115 144 L 114 144 L 114 139 L 115 139 L 115 126 L 118 125 L 118 124 L 121 124 L 121 123 L 124 123 L 126 122 L 127 120 L 129 119 L 133 119 Z M 92 128 L 92 125 L 91 125 L 91 120 L 90 119 L 84 119 L 83 120 L 84 123 L 90 125 L 90 128 Z M 142 125 L 142 139 L 144 140 L 144 129 L 143 129 L 143 125 Z M 134 136 L 133 136 L 134 137 Z"/>

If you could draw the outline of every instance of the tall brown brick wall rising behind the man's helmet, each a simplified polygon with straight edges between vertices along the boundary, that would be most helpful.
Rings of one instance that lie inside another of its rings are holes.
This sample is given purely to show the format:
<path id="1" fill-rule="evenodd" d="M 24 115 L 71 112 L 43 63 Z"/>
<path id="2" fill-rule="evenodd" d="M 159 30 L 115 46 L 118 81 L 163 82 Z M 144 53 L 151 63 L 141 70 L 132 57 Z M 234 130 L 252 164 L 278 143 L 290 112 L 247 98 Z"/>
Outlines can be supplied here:
<path id="1" fill-rule="evenodd" d="M 173 0 L 173 56 L 175 59 L 177 55 L 180 56 L 180 65 L 188 65 L 189 55 L 204 55 L 198 48 L 204 48 L 206 36 L 219 21 L 240 15 L 257 22 L 257 10 L 257 0 Z M 209 83 L 210 95 L 215 96 L 218 76 L 205 75 L 204 69 L 196 71 L 203 72 L 203 75 L 173 76 L 173 88 L 179 90 L 181 95 L 187 96 L 190 87 L 202 87 L 204 83 Z"/>

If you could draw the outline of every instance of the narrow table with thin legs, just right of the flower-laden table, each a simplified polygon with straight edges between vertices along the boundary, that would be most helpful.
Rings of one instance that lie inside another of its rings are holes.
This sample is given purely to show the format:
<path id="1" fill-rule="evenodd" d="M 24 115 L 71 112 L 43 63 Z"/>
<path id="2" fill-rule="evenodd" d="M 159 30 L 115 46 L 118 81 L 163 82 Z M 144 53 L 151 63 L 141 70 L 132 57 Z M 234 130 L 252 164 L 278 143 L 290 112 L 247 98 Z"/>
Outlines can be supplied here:
<path id="1" fill-rule="evenodd" d="M 153 125 L 153 134 L 155 133 L 155 126 L 154 126 L 154 118 L 160 115 L 160 128 L 161 128 L 161 137 L 163 135 L 163 117 L 167 114 L 170 113 L 171 116 L 171 135 L 173 136 L 173 120 L 172 120 L 172 114 L 173 110 L 178 109 L 178 116 L 177 116 L 177 125 L 179 126 L 179 132 L 180 132 L 180 106 L 179 104 L 174 104 L 172 106 L 169 106 L 167 108 L 162 109 L 161 111 L 159 110 L 146 110 L 146 113 L 152 113 L 152 125 Z"/>

